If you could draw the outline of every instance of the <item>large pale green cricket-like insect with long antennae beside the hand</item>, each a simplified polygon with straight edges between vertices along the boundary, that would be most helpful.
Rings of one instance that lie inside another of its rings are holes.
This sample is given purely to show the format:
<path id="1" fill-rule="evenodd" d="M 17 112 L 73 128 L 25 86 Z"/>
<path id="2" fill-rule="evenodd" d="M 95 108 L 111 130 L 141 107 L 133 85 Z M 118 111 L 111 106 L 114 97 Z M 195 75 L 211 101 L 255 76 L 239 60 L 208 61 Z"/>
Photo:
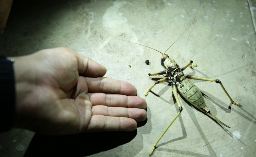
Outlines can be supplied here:
<path id="1" fill-rule="evenodd" d="M 194 24 L 194 22 L 192 22 L 192 24 Z M 192 26 L 192 24 L 190 24 L 190 26 Z M 190 26 L 188 26 L 188 28 Z M 187 31 L 187 29 L 176 39 L 176 41 Z M 126 40 L 124 40 L 124 41 L 126 41 Z M 126 41 L 126 42 L 130 42 L 130 41 Z M 131 42 L 131 43 L 138 44 L 138 43 L 135 43 L 135 42 Z M 157 80 L 150 88 L 148 88 L 146 90 L 144 95 L 147 96 L 148 92 L 150 92 L 150 91 L 152 93 L 154 93 L 152 91 L 152 88 L 154 88 L 155 85 L 168 81 L 168 82 L 171 83 L 172 93 L 174 94 L 174 97 L 175 97 L 175 99 L 177 101 L 177 104 L 178 104 L 178 107 L 179 107 L 179 111 L 178 111 L 177 115 L 174 117 L 174 119 L 170 122 L 170 124 L 165 129 L 165 131 L 163 131 L 161 136 L 157 139 L 157 141 L 152 146 L 152 149 L 150 150 L 150 152 L 148 154 L 149 156 L 154 153 L 154 150 L 157 148 L 156 146 L 157 146 L 158 142 L 161 140 L 163 135 L 166 133 L 166 131 L 170 128 L 172 123 L 177 119 L 177 117 L 180 115 L 181 111 L 183 110 L 182 105 L 181 105 L 181 101 L 178 97 L 178 92 L 177 91 L 179 91 L 179 93 L 182 95 L 182 97 L 184 97 L 186 100 L 188 100 L 188 102 L 190 102 L 193 106 L 195 106 L 196 108 L 201 110 L 205 115 L 207 115 L 211 119 L 215 120 L 216 122 L 219 122 L 220 124 L 226 126 L 227 128 L 230 128 L 229 126 L 227 126 L 226 124 L 221 122 L 217 117 L 212 115 L 212 113 L 210 112 L 210 109 L 205 104 L 205 100 L 203 98 L 203 95 L 202 95 L 201 91 L 197 88 L 197 86 L 193 82 L 190 81 L 190 79 L 194 79 L 194 80 L 203 80 L 203 81 L 216 82 L 217 84 L 220 84 L 221 88 L 223 89 L 225 94 L 229 97 L 229 100 L 232 104 L 235 104 L 237 106 L 241 106 L 240 103 L 235 102 L 230 97 L 229 93 L 224 88 L 224 86 L 223 86 L 223 84 L 221 83 L 220 80 L 203 78 L 203 77 L 199 77 L 199 76 L 196 76 L 196 75 L 186 75 L 185 76 L 184 73 L 183 73 L 183 70 L 185 70 L 188 67 L 193 69 L 193 67 L 196 67 L 197 65 L 192 64 L 193 61 L 190 60 L 190 62 L 185 64 L 183 67 L 180 67 L 177 64 L 177 62 L 175 62 L 175 60 L 173 58 L 170 58 L 166 54 L 166 51 L 168 51 L 168 49 L 170 49 L 170 47 L 172 47 L 172 45 L 165 51 L 165 53 L 162 53 L 162 52 L 158 51 L 157 49 L 154 49 L 154 48 L 149 47 L 149 46 L 145 46 L 145 45 L 142 45 L 142 44 L 138 44 L 138 45 L 148 47 L 150 49 L 153 49 L 153 50 L 161 53 L 162 54 L 161 65 L 163 66 L 163 68 L 165 68 L 164 71 L 159 71 L 159 72 L 155 72 L 155 73 L 148 73 L 149 76 L 163 75 L 165 78 Z"/>

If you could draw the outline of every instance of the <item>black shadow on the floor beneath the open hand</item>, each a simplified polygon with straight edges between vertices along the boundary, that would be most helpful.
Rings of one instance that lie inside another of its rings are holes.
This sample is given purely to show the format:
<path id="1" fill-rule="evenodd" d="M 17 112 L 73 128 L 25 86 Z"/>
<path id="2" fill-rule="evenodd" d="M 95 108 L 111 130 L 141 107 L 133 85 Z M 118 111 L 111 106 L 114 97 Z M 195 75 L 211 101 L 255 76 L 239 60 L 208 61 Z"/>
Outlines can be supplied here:
<path id="1" fill-rule="evenodd" d="M 137 135 L 134 131 L 80 133 L 66 136 L 35 134 L 24 157 L 83 157 L 126 144 Z"/>

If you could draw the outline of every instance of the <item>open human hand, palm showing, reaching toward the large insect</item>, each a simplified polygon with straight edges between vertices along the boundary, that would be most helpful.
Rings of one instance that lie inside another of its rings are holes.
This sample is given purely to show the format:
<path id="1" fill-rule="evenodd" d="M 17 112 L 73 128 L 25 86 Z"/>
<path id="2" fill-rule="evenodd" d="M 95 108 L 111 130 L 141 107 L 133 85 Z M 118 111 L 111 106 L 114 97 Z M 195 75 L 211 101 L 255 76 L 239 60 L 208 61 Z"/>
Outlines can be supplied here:
<path id="1" fill-rule="evenodd" d="M 13 57 L 14 126 L 50 135 L 130 131 L 146 119 L 146 102 L 127 82 L 103 77 L 106 68 L 66 48 Z"/>

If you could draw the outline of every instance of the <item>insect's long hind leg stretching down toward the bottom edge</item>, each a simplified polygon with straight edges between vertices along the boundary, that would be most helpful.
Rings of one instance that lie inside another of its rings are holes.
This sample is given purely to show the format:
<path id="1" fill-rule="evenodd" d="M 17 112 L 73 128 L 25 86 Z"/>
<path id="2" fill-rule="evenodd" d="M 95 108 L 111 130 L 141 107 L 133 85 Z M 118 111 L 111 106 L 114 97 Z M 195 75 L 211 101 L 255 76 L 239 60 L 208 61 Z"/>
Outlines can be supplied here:
<path id="1" fill-rule="evenodd" d="M 178 93 L 177 93 L 177 87 L 175 83 L 172 83 L 172 93 L 174 94 L 174 97 L 177 101 L 177 104 L 179 106 L 179 112 L 177 113 L 177 115 L 174 117 L 174 119 L 170 122 L 170 124 L 167 126 L 167 128 L 165 129 L 165 131 L 162 133 L 162 135 L 157 139 L 157 141 L 154 143 L 154 145 L 152 146 L 152 149 L 150 150 L 150 152 L 148 153 L 148 155 L 152 155 L 155 151 L 156 145 L 157 143 L 161 140 L 161 138 L 163 137 L 163 135 L 165 135 L 166 131 L 170 128 L 170 126 L 172 125 L 172 123 L 177 119 L 177 117 L 180 115 L 181 111 L 182 111 L 182 106 L 181 106 L 181 101 L 179 100 L 178 97 Z"/>

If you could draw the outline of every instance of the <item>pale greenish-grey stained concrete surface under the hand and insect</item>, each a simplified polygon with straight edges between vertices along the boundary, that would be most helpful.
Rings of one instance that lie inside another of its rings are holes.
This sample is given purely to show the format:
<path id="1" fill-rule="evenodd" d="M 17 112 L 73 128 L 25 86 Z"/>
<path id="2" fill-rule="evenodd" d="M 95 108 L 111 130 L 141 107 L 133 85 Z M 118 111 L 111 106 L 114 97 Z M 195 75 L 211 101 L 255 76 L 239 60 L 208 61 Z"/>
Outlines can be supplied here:
<path id="1" fill-rule="evenodd" d="M 221 128 L 181 99 L 183 112 L 154 156 L 256 156 L 256 33 L 250 12 L 255 4 L 249 6 L 247 0 L 15 1 L 0 37 L 1 55 L 68 47 L 106 66 L 106 77 L 133 84 L 148 103 L 148 119 L 132 132 L 56 137 L 13 129 L 0 133 L 0 156 L 148 156 L 176 115 L 177 103 L 167 82 L 153 90 L 160 97 L 144 96 L 155 81 L 148 73 L 163 70 L 161 54 L 123 40 L 164 52 L 193 22 L 167 54 L 181 66 L 193 60 L 198 67 L 186 69 L 186 74 L 221 80 L 243 107 L 230 105 L 218 84 L 192 80 L 208 96 L 211 112 L 231 128 Z M 232 137 L 234 131 L 240 132 L 240 139 Z"/>

